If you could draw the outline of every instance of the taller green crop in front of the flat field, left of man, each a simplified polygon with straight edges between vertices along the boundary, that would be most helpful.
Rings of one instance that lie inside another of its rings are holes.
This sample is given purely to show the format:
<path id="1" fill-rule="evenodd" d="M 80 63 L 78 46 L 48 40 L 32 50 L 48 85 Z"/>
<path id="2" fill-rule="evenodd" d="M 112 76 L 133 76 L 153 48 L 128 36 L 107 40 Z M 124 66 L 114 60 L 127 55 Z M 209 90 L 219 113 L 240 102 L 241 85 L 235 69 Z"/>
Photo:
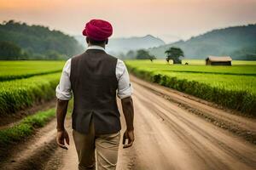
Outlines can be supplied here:
<path id="1" fill-rule="evenodd" d="M 0 114 L 14 113 L 35 102 L 52 99 L 60 73 L 0 82 Z"/>

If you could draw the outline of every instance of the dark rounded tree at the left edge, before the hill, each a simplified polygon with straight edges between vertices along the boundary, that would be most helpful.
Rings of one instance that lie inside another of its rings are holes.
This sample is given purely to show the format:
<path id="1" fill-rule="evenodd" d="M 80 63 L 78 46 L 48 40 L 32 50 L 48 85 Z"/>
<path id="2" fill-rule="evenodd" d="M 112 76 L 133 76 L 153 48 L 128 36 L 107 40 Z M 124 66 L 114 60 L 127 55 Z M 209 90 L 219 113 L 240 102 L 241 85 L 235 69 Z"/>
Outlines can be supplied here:
<path id="1" fill-rule="evenodd" d="M 0 59 L 20 59 L 21 48 L 13 42 L 0 42 Z"/>

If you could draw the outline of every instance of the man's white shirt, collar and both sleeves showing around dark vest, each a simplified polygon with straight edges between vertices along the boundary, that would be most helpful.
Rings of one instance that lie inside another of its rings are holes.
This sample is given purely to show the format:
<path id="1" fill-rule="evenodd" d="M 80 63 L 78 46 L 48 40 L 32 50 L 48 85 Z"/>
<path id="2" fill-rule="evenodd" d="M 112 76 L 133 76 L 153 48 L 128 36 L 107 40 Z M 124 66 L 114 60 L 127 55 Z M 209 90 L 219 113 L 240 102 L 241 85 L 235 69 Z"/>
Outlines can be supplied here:
<path id="1" fill-rule="evenodd" d="M 100 46 L 90 46 L 87 49 L 100 49 L 104 50 Z M 70 69 L 71 69 L 71 59 L 68 59 L 61 74 L 61 80 L 59 85 L 56 88 L 56 97 L 61 100 L 72 99 L 73 93 L 71 89 L 70 82 Z M 132 94 L 132 87 L 130 82 L 130 77 L 125 66 L 125 63 L 118 59 L 117 65 L 115 68 L 115 75 L 118 80 L 118 97 L 119 99 L 124 99 Z"/>

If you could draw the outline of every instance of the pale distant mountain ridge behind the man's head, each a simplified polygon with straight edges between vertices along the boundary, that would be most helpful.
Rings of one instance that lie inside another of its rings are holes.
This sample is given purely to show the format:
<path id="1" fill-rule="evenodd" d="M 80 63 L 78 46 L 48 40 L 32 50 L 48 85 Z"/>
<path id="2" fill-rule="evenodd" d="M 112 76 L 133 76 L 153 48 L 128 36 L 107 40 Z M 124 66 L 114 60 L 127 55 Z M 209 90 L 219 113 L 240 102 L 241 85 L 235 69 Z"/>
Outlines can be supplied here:
<path id="1" fill-rule="evenodd" d="M 75 37 L 81 44 L 85 43 L 85 37 Z M 141 48 L 153 48 L 166 44 L 158 37 L 147 35 L 145 37 L 122 37 L 109 38 L 107 51 L 110 54 L 126 54 L 129 50 L 137 50 Z"/>

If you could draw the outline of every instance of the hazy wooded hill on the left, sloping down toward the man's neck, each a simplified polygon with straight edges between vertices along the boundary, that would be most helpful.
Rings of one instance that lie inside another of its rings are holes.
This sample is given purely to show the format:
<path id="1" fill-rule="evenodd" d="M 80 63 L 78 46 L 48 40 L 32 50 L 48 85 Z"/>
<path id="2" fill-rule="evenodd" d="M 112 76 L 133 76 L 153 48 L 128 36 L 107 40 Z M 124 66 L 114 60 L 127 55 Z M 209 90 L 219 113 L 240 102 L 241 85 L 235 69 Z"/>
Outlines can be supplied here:
<path id="1" fill-rule="evenodd" d="M 83 51 L 75 38 L 61 31 L 51 31 L 45 26 L 28 26 L 14 20 L 0 24 L 0 42 L 19 46 L 26 55 L 22 59 L 64 59 Z"/>

